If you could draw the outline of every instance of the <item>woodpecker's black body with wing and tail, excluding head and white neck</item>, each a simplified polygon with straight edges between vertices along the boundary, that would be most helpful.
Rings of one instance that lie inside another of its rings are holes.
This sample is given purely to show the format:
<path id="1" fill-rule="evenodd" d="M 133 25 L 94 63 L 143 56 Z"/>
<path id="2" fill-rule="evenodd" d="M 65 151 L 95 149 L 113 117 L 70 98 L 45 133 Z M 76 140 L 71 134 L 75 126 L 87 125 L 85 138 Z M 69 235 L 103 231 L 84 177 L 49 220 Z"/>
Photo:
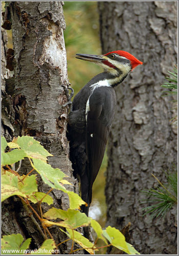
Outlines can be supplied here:
<path id="1" fill-rule="evenodd" d="M 108 74 L 106 72 L 106 74 L 97 75 L 75 96 L 73 112 L 69 115 L 71 161 L 74 171 L 80 176 L 82 199 L 88 204 L 88 207 L 82 206 L 82 211 L 86 215 L 91 204 L 93 182 L 102 163 L 116 105 L 113 87 L 100 86 L 92 93 L 93 84 L 101 76 L 108 76 Z M 86 116 L 88 99 L 90 111 Z M 92 105 L 91 102 L 95 104 Z"/>

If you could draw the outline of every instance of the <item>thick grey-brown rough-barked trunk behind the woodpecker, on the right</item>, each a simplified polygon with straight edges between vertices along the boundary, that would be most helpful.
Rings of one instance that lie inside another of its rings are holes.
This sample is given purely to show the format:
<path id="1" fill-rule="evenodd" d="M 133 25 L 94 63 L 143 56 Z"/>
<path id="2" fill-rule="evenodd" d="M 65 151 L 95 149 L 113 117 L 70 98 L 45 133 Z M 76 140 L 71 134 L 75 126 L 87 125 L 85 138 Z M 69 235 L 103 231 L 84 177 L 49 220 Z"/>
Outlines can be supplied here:
<path id="1" fill-rule="evenodd" d="M 141 254 L 177 253 L 176 208 L 164 220 L 143 215 L 141 190 L 156 187 L 153 173 L 177 161 L 171 97 L 161 84 L 176 60 L 176 2 L 99 2 L 102 53 L 126 50 L 143 61 L 116 88 L 117 108 L 108 140 L 107 224 L 131 222 L 130 243 Z"/>

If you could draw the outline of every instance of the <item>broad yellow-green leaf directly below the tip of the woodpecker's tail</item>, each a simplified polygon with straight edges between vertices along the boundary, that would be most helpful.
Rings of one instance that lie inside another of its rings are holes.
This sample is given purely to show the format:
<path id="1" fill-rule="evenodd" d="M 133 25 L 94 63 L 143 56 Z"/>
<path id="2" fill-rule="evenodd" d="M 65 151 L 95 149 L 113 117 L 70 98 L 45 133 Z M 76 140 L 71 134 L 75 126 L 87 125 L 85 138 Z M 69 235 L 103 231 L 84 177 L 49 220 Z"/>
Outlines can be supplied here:
<path id="1" fill-rule="evenodd" d="M 91 218 L 87 217 L 85 213 L 73 209 L 64 211 L 53 207 L 44 213 L 43 216 L 48 218 L 48 220 L 56 220 L 57 218 L 60 218 L 63 222 L 55 223 L 55 225 L 71 229 L 88 226 L 91 222 Z"/>

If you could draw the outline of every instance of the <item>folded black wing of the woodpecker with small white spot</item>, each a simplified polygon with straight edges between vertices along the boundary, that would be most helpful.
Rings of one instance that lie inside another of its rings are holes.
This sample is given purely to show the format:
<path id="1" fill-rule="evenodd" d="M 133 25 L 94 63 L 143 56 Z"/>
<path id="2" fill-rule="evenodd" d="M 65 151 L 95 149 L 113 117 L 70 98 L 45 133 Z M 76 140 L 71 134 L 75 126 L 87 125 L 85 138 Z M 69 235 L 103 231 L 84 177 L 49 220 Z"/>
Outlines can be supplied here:
<path id="1" fill-rule="evenodd" d="M 114 118 L 116 95 L 111 87 L 94 90 L 89 98 L 86 124 L 86 154 L 88 158 L 89 202 L 92 200 L 92 186 L 99 172 L 107 139 Z"/>

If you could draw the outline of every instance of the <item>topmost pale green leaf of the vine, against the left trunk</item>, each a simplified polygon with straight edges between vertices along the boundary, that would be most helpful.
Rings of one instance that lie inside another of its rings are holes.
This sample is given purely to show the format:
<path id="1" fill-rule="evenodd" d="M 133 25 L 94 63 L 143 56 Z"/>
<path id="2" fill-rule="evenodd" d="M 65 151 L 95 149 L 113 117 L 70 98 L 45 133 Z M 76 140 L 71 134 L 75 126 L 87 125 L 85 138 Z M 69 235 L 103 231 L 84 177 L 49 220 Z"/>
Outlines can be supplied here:
<path id="1" fill-rule="evenodd" d="M 17 144 L 23 149 L 30 158 L 37 158 L 43 161 L 47 160 L 47 156 L 51 155 L 46 149 L 40 145 L 40 142 L 34 140 L 30 136 L 21 136 L 17 138 Z"/>

